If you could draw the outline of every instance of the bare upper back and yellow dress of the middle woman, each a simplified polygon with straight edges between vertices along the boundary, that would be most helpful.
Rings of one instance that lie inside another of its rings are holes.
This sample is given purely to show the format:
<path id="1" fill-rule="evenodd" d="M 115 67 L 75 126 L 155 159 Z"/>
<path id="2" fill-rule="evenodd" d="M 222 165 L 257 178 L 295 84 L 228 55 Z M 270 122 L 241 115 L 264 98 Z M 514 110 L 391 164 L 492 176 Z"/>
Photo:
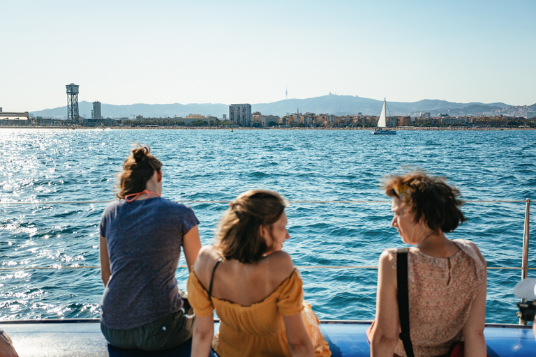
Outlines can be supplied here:
<path id="1" fill-rule="evenodd" d="M 300 313 L 316 355 L 330 356 L 287 253 L 274 252 L 254 264 L 224 259 L 214 269 L 218 257 L 211 246 L 201 250 L 196 265 L 200 269 L 190 275 L 188 295 L 198 316 L 216 309 L 220 329 L 212 346 L 220 356 L 290 356 L 283 315 Z"/>

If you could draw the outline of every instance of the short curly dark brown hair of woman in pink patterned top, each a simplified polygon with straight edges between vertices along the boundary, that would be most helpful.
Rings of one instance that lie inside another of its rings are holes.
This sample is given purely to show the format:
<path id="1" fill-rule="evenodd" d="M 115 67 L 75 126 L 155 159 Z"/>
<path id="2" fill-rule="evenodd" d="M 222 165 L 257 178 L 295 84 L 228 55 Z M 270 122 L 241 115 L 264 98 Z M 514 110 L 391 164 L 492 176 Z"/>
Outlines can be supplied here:
<path id="1" fill-rule="evenodd" d="M 415 213 L 415 222 L 424 217 L 426 225 L 435 232 L 454 231 L 466 220 L 459 207 L 460 191 L 447 185 L 445 179 L 411 172 L 393 176 L 385 182 L 385 195 L 397 197 Z"/>

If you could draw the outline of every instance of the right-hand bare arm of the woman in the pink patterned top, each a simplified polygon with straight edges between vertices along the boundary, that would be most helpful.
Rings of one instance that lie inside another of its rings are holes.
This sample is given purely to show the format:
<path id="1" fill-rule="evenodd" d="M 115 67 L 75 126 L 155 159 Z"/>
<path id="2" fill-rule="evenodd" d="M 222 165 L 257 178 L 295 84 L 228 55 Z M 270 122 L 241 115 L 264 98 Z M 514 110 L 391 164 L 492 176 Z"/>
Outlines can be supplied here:
<path id="1" fill-rule="evenodd" d="M 478 252 L 478 250 L 477 250 Z M 482 263 L 484 263 L 484 283 L 472 302 L 471 311 L 466 324 L 463 325 L 463 340 L 465 356 L 486 357 L 486 339 L 484 338 L 484 324 L 486 322 L 486 289 L 487 273 L 486 260 L 478 252 Z"/>

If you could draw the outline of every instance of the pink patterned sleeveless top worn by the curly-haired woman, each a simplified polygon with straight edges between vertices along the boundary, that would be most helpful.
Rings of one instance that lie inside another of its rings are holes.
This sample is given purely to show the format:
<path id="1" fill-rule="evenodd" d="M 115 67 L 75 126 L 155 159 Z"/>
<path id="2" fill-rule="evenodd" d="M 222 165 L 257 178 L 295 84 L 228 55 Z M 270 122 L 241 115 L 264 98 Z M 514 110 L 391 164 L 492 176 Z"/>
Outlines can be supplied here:
<path id="1" fill-rule="evenodd" d="M 486 279 L 478 248 L 470 241 L 454 240 L 460 250 L 449 258 L 408 253 L 410 335 L 415 356 L 446 354 L 462 337 L 472 302 Z M 396 270 L 396 249 L 389 249 Z M 401 341 L 395 353 L 405 356 Z"/>

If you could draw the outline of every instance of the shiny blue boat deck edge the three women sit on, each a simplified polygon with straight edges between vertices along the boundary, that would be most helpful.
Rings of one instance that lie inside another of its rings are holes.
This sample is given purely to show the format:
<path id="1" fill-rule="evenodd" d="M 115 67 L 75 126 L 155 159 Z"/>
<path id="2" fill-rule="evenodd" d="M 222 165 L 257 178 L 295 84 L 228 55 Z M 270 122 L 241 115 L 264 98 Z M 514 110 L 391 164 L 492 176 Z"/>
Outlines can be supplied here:
<path id="1" fill-rule="evenodd" d="M 320 330 L 329 342 L 334 357 L 370 356 L 365 331 L 370 321 L 321 321 Z M 219 327 L 216 322 L 215 330 Z M 97 320 L 1 321 L 20 357 L 145 357 L 190 356 L 190 346 L 158 354 L 143 351 L 108 349 Z M 491 357 L 536 356 L 536 341 L 531 326 L 486 324 L 484 330 Z"/>

